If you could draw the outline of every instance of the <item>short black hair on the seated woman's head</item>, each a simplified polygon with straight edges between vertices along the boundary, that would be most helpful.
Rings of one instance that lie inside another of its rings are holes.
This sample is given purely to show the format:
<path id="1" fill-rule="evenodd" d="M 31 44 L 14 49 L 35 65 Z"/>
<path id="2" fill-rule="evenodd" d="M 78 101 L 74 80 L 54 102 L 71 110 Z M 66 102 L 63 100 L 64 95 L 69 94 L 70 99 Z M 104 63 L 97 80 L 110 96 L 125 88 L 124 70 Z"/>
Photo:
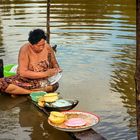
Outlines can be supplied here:
<path id="1" fill-rule="evenodd" d="M 42 29 L 30 31 L 28 41 L 32 45 L 37 44 L 41 39 L 47 39 L 45 32 Z"/>

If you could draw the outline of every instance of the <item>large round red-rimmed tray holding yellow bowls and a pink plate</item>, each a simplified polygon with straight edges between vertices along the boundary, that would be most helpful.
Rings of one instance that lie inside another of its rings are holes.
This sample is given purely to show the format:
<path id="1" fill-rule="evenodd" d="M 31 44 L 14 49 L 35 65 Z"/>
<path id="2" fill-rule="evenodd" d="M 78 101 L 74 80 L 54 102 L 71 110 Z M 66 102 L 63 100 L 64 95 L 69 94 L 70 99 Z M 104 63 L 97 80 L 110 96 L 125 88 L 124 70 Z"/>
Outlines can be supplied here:
<path id="1" fill-rule="evenodd" d="M 48 123 L 58 130 L 67 132 L 79 132 L 90 129 L 99 122 L 99 117 L 95 114 L 81 111 L 65 111 L 61 112 L 62 117 L 52 117 L 52 113 L 48 118 Z M 60 121 L 58 121 L 60 120 Z"/>

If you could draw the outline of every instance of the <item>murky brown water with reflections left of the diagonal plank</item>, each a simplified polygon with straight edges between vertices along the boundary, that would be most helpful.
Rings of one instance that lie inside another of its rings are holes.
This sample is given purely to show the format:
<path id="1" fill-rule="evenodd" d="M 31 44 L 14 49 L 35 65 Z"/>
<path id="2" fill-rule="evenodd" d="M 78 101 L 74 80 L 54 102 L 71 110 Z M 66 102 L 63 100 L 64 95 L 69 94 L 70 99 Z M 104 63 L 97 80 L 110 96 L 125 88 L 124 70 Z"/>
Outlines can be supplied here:
<path id="1" fill-rule="evenodd" d="M 33 140 L 71 140 L 68 134 L 60 132 L 53 127 L 50 127 L 47 122 L 47 117 L 31 104 L 29 101 L 23 101 L 24 104 L 19 104 L 18 107 L 13 108 L 12 105 L 18 100 L 9 99 L 9 97 L 2 96 L 0 99 L 3 103 L 8 100 L 10 105 L 3 105 L 0 109 L 0 139 L 33 139 Z M 22 98 L 23 99 L 23 98 Z M 4 108 L 5 107 L 5 108 Z M 5 110 L 11 107 L 10 110 Z"/>

